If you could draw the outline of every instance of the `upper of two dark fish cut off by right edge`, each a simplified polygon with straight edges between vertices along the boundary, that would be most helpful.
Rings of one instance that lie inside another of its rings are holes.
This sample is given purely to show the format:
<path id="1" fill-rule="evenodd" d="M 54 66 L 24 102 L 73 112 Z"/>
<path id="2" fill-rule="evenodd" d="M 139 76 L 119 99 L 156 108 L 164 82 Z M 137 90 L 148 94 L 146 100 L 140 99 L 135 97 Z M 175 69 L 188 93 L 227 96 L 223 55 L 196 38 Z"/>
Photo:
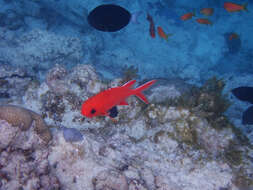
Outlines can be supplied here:
<path id="1" fill-rule="evenodd" d="M 236 98 L 253 104 L 253 87 L 241 86 L 234 88 L 232 93 Z"/>

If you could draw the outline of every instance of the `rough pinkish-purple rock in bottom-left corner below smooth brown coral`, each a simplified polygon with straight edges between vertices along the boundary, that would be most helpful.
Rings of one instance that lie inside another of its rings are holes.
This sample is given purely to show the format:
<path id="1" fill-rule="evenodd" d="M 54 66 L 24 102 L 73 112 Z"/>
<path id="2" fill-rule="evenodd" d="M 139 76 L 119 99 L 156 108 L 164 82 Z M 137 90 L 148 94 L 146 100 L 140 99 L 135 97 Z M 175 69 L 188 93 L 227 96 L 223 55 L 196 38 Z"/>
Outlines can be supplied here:
<path id="1" fill-rule="evenodd" d="M 37 134 L 35 122 L 26 128 L 22 122 L 0 118 L 0 189 L 60 189 L 47 160 L 49 149 Z"/>

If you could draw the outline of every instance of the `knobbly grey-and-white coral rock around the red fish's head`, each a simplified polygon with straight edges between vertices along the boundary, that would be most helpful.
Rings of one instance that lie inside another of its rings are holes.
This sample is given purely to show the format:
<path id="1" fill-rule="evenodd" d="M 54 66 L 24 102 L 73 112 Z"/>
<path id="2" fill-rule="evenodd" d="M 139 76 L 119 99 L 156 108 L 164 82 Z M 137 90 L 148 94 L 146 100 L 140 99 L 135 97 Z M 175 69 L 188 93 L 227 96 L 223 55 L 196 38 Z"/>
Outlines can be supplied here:
<path id="1" fill-rule="evenodd" d="M 81 105 L 85 99 L 105 88 L 90 65 L 77 65 L 68 74 L 63 67 L 56 65 L 49 71 L 46 83 L 29 88 L 23 100 L 29 108 L 42 112 L 49 124 L 54 125 L 57 121 L 72 128 L 94 127 L 99 123 L 84 122 L 85 118 L 80 114 Z"/>

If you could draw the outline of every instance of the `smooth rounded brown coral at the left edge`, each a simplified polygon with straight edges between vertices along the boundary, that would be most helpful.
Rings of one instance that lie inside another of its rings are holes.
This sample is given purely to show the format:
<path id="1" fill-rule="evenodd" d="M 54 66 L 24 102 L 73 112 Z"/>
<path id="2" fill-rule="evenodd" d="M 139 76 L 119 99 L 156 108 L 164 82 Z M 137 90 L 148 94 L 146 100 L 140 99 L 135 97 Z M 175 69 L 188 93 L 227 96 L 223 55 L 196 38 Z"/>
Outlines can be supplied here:
<path id="1" fill-rule="evenodd" d="M 35 131 L 46 144 L 52 139 L 44 120 L 31 110 L 14 105 L 0 105 L 0 119 L 23 131 L 28 130 L 34 122 Z"/>

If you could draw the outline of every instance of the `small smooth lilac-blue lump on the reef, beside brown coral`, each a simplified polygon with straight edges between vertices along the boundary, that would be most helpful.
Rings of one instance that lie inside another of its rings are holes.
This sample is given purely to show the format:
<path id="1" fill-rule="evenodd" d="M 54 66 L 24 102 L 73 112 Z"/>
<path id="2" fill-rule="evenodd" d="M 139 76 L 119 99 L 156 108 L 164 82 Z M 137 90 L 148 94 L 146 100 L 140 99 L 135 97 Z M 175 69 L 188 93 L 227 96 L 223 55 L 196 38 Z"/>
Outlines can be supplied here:
<path id="1" fill-rule="evenodd" d="M 67 142 L 78 142 L 83 140 L 82 133 L 75 128 L 62 127 L 63 137 Z"/>

